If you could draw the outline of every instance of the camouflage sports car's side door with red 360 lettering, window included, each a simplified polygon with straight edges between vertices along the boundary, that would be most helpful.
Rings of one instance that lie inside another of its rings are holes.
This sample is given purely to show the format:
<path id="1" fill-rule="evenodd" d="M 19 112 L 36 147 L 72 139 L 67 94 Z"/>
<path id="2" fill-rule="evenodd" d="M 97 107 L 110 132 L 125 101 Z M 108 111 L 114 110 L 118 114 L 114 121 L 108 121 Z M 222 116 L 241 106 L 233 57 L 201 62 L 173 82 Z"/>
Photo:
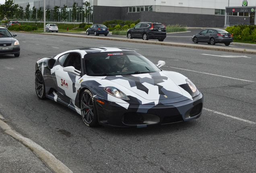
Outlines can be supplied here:
<path id="1" fill-rule="evenodd" d="M 64 67 L 73 66 L 76 70 L 81 71 L 81 54 L 77 52 L 72 52 L 65 54 L 58 58 L 60 64 L 54 66 L 55 75 L 56 75 L 56 89 L 61 93 L 58 95 L 66 103 L 70 103 L 70 100 L 74 103 L 76 98 L 76 81 L 81 77 L 72 72 L 66 72 L 63 70 Z M 62 62 L 64 59 L 64 62 Z M 63 63 L 63 65 L 62 65 Z"/>

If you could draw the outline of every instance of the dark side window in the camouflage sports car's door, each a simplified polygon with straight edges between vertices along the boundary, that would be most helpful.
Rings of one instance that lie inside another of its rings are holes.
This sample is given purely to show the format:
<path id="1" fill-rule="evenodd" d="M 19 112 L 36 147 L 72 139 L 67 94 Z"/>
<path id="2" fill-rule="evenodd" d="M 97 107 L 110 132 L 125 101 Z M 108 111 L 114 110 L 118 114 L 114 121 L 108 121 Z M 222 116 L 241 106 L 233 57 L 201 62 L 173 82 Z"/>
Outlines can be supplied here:
<path id="1" fill-rule="evenodd" d="M 76 70 L 81 71 L 81 55 L 78 53 L 68 54 L 63 66 L 73 66 Z"/>

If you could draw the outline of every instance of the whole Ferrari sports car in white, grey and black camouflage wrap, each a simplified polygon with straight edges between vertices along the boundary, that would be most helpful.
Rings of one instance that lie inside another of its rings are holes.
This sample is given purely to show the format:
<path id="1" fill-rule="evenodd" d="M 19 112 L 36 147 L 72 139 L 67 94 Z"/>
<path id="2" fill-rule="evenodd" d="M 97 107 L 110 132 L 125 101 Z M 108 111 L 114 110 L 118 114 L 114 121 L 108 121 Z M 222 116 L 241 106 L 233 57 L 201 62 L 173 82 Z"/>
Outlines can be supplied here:
<path id="1" fill-rule="evenodd" d="M 164 71 L 133 50 L 81 48 L 35 65 L 39 99 L 52 99 L 97 124 L 140 128 L 200 117 L 203 95 L 178 72 Z"/>

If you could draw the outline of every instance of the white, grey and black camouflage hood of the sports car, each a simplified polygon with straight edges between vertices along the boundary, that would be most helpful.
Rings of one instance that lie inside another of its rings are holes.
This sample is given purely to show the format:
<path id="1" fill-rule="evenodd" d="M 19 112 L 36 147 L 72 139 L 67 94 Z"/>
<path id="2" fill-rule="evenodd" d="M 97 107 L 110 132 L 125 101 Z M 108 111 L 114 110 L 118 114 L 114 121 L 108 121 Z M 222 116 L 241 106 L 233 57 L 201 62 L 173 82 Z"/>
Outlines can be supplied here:
<path id="1" fill-rule="evenodd" d="M 122 85 L 122 87 L 149 101 L 175 99 L 183 96 L 181 88 L 163 72 L 106 76 L 105 79 L 111 80 L 111 82 L 116 82 L 117 84 Z M 118 89 L 127 95 L 124 89 Z M 129 97 L 129 95 L 127 96 Z"/>

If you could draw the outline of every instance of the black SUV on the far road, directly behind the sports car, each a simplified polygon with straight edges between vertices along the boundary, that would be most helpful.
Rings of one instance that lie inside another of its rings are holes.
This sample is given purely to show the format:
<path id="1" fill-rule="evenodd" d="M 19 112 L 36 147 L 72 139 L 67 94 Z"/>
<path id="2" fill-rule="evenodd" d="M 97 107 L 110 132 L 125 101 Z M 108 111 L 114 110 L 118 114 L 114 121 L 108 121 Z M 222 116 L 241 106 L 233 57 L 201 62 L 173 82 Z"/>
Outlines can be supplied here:
<path id="1" fill-rule="evenodd" d="M 128 29 L 127 38 L 142 38 L 143 40 L 158 39 L 163 41 L 166 38 L 165 26 L 159 22 L 140 22 Z"/>

